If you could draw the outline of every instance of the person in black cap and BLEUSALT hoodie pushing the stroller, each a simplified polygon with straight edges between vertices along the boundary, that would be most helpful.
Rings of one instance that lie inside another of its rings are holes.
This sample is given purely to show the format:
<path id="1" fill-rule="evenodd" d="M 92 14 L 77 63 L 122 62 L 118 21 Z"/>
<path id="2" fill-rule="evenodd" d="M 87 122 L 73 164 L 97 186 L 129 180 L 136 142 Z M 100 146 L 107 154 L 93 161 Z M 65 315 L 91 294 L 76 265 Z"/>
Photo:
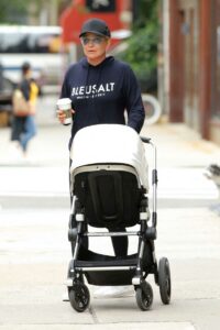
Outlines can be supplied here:
<path id="1" fill-rule="evenodd" d="M 86 21 L 79 38 L 85 57 L 70 65 L 61 94 L 61 98 L 72 99 L 74 120 L 69 150 L 75 134 L 85 127 L 125 124 L 127 111 L 128 125 L 140 132 L 145 117 L 134 73 L 128 64 L 107 56 L 111 33 L 106 22 L 99 19 Z M 65 112 L 59 109 L 57 117 L 64 123 Z M 116 255 L 128 254 L 127 237 L 114 237 L 112 243 Z"/>

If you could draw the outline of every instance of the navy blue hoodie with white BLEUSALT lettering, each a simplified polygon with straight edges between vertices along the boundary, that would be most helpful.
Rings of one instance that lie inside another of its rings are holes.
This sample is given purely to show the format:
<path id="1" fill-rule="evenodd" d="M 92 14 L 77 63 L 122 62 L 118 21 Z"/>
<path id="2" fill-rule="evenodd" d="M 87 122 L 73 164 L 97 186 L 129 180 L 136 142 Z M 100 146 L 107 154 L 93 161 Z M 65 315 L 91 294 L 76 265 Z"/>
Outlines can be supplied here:
<path id="1" fill-rule="evenodd" d="M 125 124 L 138 133 L 144 122 L 141 90 L 132 69 L 125 63 L 107 57 L 92 66 L 84 57 L 69 67 L 61 98 L 70 98 L 75 110 L 69 147 L 76 132 L 100 123 Z"/>

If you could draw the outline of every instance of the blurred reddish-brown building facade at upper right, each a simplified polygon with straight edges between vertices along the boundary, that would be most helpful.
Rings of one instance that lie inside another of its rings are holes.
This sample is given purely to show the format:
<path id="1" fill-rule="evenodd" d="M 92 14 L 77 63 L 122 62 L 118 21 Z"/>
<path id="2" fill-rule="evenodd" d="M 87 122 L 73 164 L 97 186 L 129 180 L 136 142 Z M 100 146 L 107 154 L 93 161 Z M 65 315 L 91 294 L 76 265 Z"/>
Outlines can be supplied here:
<path id="1" fill-rule="evenodd" d="M 163 105 L 220 144 L 220 0 L 162 0 Z"/>

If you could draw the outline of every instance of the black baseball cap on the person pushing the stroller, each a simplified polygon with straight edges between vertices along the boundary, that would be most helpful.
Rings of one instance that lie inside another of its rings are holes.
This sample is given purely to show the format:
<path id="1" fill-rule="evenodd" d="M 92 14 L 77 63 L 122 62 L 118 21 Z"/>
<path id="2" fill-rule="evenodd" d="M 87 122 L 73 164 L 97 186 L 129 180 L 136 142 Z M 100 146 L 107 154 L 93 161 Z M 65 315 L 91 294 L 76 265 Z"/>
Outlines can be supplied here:
<path id="1" fill-rule="evenodd" d="M 107 23 L 99 19 L 90 19 L 86 21 L 81 26 L 81 32 L 79 34 L 79 37 L 81 37 L 84 34 L 89 32 L 98 35 L 107 36 L 107 37 L 111 36 L 111 32 Z"/>

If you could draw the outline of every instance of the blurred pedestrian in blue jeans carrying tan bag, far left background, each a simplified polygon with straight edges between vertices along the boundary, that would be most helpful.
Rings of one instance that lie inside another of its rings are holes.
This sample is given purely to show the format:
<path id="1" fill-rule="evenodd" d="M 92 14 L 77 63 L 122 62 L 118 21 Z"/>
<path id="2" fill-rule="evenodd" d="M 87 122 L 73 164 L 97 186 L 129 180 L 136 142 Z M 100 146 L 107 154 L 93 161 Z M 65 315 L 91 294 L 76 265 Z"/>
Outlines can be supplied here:
<path id="1" fill-rule="evenodd" d="M 36 135 L 35 103 L 38 87 L 32 78 L 29 63 L 22 65 L 22 79 L 13 94 L 13 122 L 11 141 L 15 142 L 24 155 L 31 139 Z"/>

